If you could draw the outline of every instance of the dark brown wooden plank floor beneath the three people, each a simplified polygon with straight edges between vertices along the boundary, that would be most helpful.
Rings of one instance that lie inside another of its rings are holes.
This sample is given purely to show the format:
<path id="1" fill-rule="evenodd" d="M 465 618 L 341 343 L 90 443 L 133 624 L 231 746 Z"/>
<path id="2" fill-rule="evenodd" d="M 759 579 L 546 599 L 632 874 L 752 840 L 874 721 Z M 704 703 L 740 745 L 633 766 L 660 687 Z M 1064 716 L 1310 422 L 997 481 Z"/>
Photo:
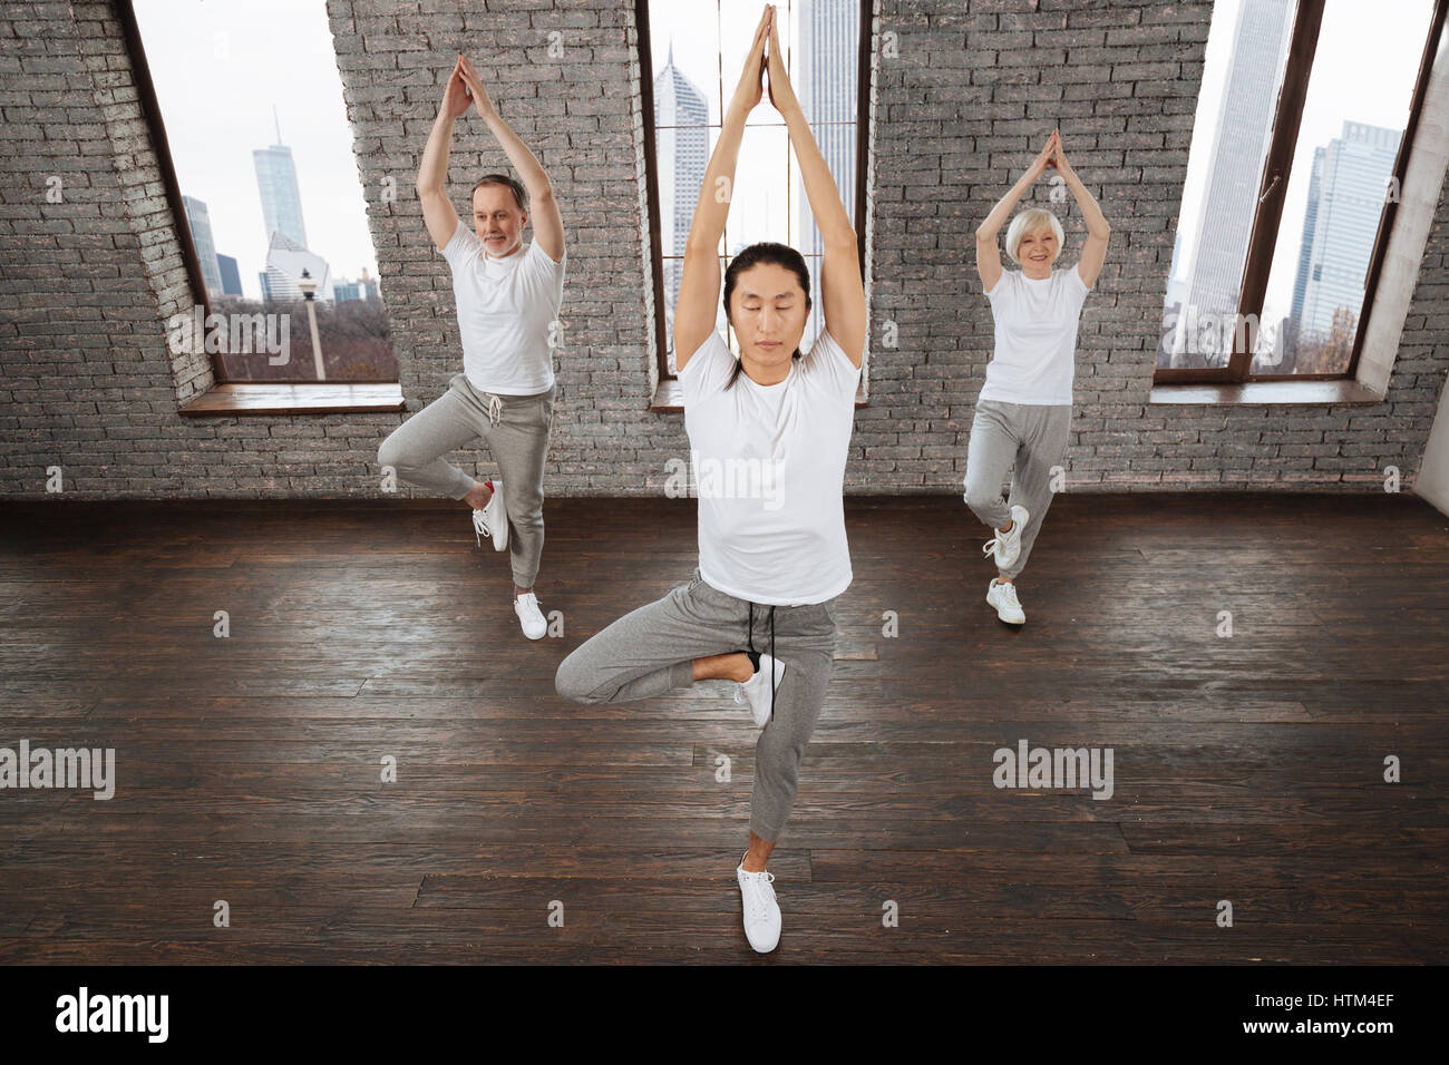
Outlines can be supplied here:
<path id="1" fill-rule="evenodd" d="M 772 962 L 1446 959 L 1437 511 L 1064 494 L 1019 632 L 982 601 L 958 497 L 848 517 Z M 690 575 L 694 504 L 546 519 L 540 600 L 567 635 L 529 643 L 464 509 L 7 503 L 0 746 L 114 748 L 117 790 L 0 791 L 0 962 L 753 959 L 733 869 L 755 732 L 729 690 L 584 707 L 552 687 Z M 1019 739 L 1113 748 L 1114 797 L 997 790 Z"/>

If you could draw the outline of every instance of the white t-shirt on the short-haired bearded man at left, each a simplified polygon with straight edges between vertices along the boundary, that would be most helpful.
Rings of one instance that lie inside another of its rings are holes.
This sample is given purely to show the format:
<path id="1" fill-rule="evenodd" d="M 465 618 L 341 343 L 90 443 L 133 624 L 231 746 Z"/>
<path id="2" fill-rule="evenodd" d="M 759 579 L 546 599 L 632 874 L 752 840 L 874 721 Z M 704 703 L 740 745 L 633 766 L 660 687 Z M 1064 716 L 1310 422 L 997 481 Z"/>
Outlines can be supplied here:
<path id="1" fill-rule="evenodd" d="M 538 242 L 513 255 L 487 254 L 462 220 L 443 248 L 452 267 L 462 372 L 478 391 L 533 396 L 554 385 L 549 330 L 564 300 L 564 267 Z"/>

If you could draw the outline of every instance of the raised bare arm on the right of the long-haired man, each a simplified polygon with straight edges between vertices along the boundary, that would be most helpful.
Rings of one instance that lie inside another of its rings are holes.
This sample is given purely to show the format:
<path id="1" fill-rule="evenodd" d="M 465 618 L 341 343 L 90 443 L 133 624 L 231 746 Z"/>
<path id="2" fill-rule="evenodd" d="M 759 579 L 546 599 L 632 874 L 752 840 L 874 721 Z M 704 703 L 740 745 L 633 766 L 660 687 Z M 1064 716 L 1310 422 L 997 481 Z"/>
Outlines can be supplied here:
<path id="1" fill-rule="evenodd" d="M 769 101 L 785 119 L 790 143 L 800 164 L 800 178 L 806 185 L 810 213 L 820 230 L 820 310 L 824 314 L 826 332 L 835 338 L 840 349 L 856 367 L 865 354 L 865 284 L 861 281 L 861 252 L 855 239 L 855 226 L 840 203 L 840 190 L 830 175 L 830 165 L 820 154 L 810 123 L 800 109 L 800 100 L 790 85 L 785 72 L 784 52 L 780 48 L 780 30 L 775 26 L 774 6 L 769 16 Z"/>

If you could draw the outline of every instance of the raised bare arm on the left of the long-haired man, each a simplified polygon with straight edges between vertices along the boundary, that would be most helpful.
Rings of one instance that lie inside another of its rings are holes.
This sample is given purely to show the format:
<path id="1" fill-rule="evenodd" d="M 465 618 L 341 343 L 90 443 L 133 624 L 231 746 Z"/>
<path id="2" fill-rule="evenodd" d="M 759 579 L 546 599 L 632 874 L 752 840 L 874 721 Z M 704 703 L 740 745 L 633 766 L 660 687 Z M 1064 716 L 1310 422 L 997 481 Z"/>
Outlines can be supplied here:
<path id="1" fill-rule="evenodd" d="M 694 204 L 694 220 L 684 243 L 684 267 L 680 274 L 680 298 L 674 304 L 674 365 L 684 369 L 714 332 L 720 300 L 720 236 L 729 217 L 729 201 L 735 185 L 735 164 L 739 142 L 745 136 L 745 119 L 765 94 L 765 38 L 769 9 L 759 16 L 755 41 L 745 58 L 735 96 L 724 110 L 719 141 L 704 170 L 704 184 Z"/>

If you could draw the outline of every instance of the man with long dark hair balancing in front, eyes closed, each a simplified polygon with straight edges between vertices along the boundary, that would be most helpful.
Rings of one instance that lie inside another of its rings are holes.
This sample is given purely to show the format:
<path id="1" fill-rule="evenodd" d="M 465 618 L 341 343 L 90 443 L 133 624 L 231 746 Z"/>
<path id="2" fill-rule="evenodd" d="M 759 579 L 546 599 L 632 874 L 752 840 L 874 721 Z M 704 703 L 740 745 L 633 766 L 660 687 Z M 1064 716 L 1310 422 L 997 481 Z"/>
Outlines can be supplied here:
<path id="1" fill-rule="evenodd" d="M 800 761 L 830 680 L 836 600 L 852 580 L 842 488 L 865 349 L 855 229 L 785 77 L 774 14 L 767 6 L 710 156 L 674 314 L 700 564 L 693 580 L 574 651 L 555 681 L 559 694 L 581 703 L 646 698 L 710 678 L 740 684 L 736 698 L 749 703 L 764 729 L 755 743 L 749 849 L 735 869 L 745 935 L 759 952 L 780 942 L 765 861 L 794 806 Z M 785 119 L 824 246 L 824 329 L 801 355 L 810 317 L 806 262 L 784 245 L 752 245 L 724 274 L 736 361 L 714 329 L 729 214 L 727 197 L 717 200 L 714 191 L 733 184 L 745 119 L 764 93 L 767 41 L 769 100 Z"/>

